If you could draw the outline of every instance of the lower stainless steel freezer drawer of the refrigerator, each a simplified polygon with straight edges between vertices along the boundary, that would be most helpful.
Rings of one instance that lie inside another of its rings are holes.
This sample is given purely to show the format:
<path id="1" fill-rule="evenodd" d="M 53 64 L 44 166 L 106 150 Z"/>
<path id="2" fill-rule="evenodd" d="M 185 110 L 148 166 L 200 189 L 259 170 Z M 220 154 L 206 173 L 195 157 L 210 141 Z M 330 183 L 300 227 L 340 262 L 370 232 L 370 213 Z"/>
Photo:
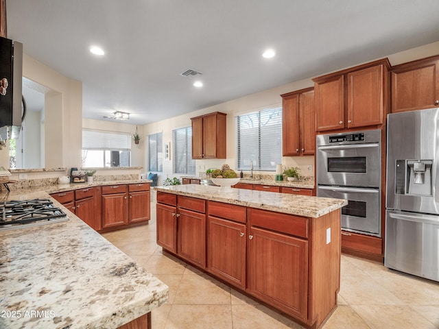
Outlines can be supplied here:
<path id="1" fill-rule="evenodd" d="M 439 216 L 385 212 L 384 265 L 439 281 Z"/>

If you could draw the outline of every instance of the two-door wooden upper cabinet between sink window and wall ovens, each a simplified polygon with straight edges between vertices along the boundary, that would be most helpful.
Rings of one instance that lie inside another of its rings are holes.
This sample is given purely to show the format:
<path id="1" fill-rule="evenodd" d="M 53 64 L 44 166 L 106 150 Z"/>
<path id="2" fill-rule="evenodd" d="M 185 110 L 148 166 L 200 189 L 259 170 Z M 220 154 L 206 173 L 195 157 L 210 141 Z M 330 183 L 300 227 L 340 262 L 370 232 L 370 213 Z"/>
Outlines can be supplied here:
<path id="1" fill-rule="evenodd" d="M 314 88 L 281 95 L 283 156 L 313 155 L 316 149 Z"/>

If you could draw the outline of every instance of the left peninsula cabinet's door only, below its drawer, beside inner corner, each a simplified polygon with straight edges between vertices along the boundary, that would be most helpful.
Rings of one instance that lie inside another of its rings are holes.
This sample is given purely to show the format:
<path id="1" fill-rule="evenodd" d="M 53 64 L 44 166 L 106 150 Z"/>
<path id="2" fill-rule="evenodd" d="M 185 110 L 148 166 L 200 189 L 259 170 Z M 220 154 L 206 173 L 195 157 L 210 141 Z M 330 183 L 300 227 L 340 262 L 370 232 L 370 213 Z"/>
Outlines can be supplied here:
<path id="1" fill-rule="evenodd" d="M 127 193 L 102 195 L 102 228 L 128 223 Z"/>

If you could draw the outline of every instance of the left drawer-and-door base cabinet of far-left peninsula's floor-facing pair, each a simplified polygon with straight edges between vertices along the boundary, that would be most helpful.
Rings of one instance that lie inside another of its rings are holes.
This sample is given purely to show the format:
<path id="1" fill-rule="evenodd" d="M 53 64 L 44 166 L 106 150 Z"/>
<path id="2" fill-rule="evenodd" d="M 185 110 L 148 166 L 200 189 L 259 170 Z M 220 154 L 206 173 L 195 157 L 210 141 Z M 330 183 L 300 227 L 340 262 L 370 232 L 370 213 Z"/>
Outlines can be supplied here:
<path id="1" fill-rule="evenodd" d="M 102 228 L 128 223 L 128 186 L 102 186 Z"/>

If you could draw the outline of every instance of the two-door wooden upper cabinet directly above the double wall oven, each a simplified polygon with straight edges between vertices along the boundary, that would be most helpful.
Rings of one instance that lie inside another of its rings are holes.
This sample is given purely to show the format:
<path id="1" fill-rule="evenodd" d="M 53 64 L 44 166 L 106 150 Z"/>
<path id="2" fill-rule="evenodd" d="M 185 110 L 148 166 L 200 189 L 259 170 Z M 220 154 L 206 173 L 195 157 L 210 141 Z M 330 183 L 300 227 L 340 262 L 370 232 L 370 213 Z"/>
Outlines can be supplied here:
<path id="1" fill-rule="evenodd" d="M 382 125 L 388 112 L 387 58 L 316 77 L 316 131 Z"/>

